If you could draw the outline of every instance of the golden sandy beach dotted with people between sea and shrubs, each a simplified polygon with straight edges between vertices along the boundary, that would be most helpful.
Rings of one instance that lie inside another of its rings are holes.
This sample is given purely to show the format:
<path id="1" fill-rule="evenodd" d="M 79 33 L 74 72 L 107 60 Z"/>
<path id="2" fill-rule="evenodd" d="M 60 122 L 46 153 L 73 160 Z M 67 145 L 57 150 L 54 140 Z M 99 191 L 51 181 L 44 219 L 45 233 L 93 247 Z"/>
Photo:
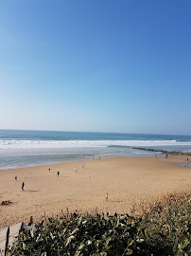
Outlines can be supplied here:
<path id="1" fill-rule="evenodd" d="M 0 201 L 12 203 L 0 206 L 0 228 L 27 222 L 31 215 L 37 221 L 44 214 L 59 214 L 66 208 L 130 213 L 133 205 L 136 209 L 143 201 L 153 201 L 167 192 L 190 190 L 191 168 L 176 164 L 186 163 L 186 159 L 187 156 L 177 155 L 169 155 L 168 159 L 104 158 L 2 170 Z"/>

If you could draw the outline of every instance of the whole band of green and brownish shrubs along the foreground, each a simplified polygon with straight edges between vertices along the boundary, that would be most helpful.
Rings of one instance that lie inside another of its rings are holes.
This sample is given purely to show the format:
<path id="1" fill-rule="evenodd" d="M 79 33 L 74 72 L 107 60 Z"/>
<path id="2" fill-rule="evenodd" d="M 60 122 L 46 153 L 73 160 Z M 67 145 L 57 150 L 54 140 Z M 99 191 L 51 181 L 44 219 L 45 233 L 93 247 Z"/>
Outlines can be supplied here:
<path id="1" fill-rule="evenodd" d="M 62 214 L 23 232 L 9 255 L 190 255 L 190 198 L 170 194 L 140 216 Z"/>

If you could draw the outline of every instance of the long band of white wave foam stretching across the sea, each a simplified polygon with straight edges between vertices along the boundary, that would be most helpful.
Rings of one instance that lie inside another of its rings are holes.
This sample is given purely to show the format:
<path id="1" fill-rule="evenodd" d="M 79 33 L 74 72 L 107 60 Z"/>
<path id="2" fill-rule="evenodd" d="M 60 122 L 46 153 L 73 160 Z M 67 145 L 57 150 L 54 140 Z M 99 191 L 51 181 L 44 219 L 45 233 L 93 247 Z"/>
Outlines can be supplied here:
<path id="1" fill-rule="evenodd" d="M 0 149 L 67 149 L 108 146 L 154 147 L 191 146 L 191 142 L 176 140 L 0 140 Z"/>

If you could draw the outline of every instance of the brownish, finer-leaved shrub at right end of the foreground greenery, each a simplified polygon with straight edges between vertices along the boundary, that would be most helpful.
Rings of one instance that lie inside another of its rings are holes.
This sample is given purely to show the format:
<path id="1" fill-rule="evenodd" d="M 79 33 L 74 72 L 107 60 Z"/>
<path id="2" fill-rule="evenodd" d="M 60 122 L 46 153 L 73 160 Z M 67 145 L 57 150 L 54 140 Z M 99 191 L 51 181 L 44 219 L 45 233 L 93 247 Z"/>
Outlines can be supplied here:
<path id="1" fill-rule="evenodd" d="M 142 223 L 153 242 L 164 236 L 165 244 L 173 248 L 174 255 L 191 255 L 190 214 L 191 194 L 172 193 L 144 213 Z"/>

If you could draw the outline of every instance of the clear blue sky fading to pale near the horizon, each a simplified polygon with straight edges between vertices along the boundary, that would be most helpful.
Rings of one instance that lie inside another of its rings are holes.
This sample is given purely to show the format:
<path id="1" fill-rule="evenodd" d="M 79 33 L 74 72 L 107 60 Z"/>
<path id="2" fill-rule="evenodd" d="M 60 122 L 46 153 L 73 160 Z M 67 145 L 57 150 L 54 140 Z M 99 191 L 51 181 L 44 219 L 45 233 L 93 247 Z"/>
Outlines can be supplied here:
<path id="1" fill-rule="evenodd" d="M 191 135 L 191 1 L 0 1 L 0 129 Z"/>

